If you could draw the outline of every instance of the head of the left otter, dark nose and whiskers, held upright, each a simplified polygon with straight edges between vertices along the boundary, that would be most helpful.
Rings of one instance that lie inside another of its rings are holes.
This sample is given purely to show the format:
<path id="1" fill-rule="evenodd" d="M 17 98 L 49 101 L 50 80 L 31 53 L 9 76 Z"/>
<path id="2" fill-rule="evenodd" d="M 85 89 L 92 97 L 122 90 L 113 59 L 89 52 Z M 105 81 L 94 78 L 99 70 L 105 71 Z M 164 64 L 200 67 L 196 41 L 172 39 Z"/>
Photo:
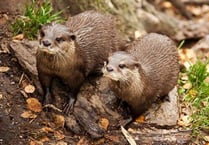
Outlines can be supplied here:
<path id="1" fill-rule="evenodd" d="M 39 51 L 48 55 L 73 53 L 76 48 L 75 39 L 75 35 L 72 35 L 65 25 L 47 24 L 39 31 Z"/>

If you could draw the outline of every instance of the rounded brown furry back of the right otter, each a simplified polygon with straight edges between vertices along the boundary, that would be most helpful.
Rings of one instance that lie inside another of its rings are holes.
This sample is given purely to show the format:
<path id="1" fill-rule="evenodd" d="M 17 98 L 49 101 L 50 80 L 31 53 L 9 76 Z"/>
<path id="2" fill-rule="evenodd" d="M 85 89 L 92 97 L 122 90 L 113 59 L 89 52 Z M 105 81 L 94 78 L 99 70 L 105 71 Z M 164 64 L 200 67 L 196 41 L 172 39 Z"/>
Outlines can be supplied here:
<path id="1" fill-rule="evenodd" d="M 146 76 L 156 88 L 157 96 L 165 96 L 176 85 L 179 73 L 178 52 L 174 42 L 167 36 L 151 33 L 128 47 L 136 57 Z"/>

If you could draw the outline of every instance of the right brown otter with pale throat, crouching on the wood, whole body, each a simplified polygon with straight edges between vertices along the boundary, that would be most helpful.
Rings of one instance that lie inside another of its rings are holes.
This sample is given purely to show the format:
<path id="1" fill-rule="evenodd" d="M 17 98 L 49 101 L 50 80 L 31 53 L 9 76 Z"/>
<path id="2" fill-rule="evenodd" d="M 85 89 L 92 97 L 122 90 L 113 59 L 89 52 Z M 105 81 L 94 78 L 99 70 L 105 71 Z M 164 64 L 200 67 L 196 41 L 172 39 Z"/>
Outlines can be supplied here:
<path id="1" fill-rule="evenodd" d="M 114 52 L 102 69 L 115 94 L 140 115 L 177 84 L 178 52 L 167 36 L 151 33 Z"/>

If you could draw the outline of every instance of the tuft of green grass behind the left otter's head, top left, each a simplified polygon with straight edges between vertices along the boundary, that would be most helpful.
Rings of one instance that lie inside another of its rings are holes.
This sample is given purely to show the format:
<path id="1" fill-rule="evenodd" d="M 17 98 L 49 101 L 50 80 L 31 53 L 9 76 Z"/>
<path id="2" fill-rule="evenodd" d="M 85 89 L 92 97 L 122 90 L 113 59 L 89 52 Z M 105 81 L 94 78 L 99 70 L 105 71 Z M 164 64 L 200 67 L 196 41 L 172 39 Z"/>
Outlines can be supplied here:
<path id="1" fill-rule="evenodd" d="M 14 35 L 23 33 L 28 39 L 36 37 L 40 25 L 50 23 L 52 21 L 61 22 L 60 12 L 53 13 L 52 5 L 49 0 L 39 5 L 35 0 L 26 4 L 23 16 L 18 16 L 12 23 L 12 31 Z"/>

